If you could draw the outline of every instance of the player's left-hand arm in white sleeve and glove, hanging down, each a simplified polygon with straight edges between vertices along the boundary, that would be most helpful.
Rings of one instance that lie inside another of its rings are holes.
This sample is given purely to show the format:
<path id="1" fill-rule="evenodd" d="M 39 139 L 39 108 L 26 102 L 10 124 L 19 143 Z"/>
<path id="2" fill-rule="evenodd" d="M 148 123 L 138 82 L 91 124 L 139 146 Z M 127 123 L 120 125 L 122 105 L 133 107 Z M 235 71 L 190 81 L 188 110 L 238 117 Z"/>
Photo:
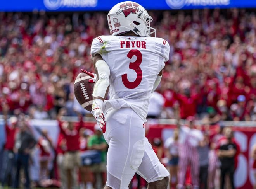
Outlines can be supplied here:
<path id="1" fill-rule="evenodd" d="M 95 85 L 93 87 L 93 102 L 92 102 L 92 114 L 95 117 L 97 123 L 99 123 L 102 132 L 106 131 L 105 117 L 102 112 L 103 101 L 107 96 L 109 89 L 109 75 L 110 70 L 107 63 L 103 60 L 100 54 L 95 54 L 93 57 L 93 66 L 97 74 Z"/>

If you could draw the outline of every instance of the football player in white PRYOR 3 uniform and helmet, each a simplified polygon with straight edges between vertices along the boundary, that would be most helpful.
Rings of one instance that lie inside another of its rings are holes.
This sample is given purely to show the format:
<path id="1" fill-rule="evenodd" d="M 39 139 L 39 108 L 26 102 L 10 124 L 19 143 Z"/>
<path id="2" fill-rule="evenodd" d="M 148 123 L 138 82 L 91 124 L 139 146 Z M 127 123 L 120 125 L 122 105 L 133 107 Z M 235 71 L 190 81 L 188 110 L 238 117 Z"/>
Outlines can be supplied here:
<path id="1" fill-rule="evenodd" d="M 107 22 L 111 35 L 92 42 L 97 77 L 89 81 L 95 82 L 92 114 L 109 144 L 104 189 L 128 189 L 135 172 L 147 180 L 148 189 L 166 189 L 169 173 L 145 138 L 144 122 L 169 59 L 169 44 L 155 37 L 152 17 L 138 3 L 118 3 Z"/>

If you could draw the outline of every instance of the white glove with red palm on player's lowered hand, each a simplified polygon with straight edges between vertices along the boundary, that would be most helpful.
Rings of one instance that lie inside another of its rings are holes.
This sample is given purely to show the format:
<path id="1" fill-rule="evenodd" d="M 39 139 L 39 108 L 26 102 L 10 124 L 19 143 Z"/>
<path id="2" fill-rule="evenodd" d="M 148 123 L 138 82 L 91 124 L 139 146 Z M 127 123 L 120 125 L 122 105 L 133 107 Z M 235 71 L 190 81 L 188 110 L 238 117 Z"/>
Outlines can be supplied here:
<path id="1" fill-rule="evenodd" d="M 106 132 L 106 121 L 104 113 L 101 109 L 103 101 L 100 99 L 95 99 L 92 102 L 92 115 L 95 117 L 97 123 L 100 125 L 102 132 Z"/>

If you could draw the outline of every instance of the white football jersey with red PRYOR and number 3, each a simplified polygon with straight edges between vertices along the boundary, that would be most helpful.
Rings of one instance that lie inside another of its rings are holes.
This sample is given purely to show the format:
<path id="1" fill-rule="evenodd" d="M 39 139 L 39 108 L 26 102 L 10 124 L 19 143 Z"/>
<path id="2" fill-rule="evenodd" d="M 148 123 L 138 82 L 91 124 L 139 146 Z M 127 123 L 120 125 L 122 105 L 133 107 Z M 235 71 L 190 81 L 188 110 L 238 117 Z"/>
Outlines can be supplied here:
<path id="1" fill-rule="evenodd" d="M 147 116 L 154 82 L 169 59 L 166 40 L 155 37 L 99 36 L 92 58 L 100 54 L 110 69 L 109 96 L 123 99 L 142 119 Z"/>

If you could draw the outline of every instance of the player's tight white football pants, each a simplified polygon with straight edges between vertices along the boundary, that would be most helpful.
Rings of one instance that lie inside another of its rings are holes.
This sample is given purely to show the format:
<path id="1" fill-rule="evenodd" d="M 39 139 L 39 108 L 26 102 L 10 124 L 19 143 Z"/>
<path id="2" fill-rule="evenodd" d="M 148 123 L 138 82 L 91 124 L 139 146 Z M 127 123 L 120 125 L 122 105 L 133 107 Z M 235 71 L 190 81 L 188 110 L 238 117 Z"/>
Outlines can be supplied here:
<path id="1" fill-rule="evenodd" d="M 107 183 L 112 189 L 128 189 L 135 172 L 147 182 L 168 177 L 145 137 L 144 121 L 131 108 L 114 109 L 106 114 Z"/>

